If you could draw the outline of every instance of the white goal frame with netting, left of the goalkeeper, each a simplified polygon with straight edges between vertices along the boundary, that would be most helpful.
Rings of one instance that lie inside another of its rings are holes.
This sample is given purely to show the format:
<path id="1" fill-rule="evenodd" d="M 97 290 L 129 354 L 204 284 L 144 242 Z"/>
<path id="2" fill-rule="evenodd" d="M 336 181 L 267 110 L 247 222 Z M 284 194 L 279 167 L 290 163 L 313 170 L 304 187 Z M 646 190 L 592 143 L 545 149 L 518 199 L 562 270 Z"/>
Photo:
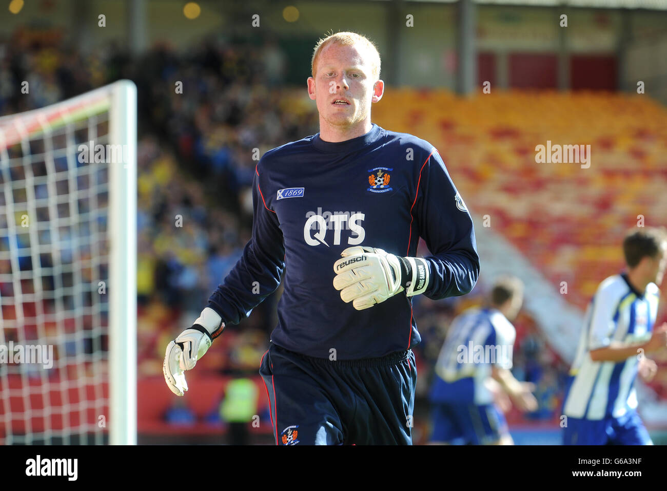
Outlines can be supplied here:
<path id="1" fill-rule="evenodd" d="M 0 444 L 136 444 L 136 107 L 0 118 Z"/>

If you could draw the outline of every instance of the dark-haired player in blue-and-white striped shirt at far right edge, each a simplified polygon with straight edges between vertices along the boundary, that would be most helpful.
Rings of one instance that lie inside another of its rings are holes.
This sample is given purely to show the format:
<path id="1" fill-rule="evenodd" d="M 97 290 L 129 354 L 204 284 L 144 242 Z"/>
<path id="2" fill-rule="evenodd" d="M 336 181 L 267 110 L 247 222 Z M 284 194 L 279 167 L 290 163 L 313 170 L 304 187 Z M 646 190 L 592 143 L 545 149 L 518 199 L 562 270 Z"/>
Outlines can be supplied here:
<path id="1" fill-rule="evenodd" d="M 565 445 L 652 445 L 636 412 L 634 379 L 655 375 L 646 358 L 667 346 L 667 324 L 654 329 L 658 285 L 667 266 L 664 228 L 640 228 L 623 241 L 627 271 L 598 287 L 584 317 L 564 399 Z"/>

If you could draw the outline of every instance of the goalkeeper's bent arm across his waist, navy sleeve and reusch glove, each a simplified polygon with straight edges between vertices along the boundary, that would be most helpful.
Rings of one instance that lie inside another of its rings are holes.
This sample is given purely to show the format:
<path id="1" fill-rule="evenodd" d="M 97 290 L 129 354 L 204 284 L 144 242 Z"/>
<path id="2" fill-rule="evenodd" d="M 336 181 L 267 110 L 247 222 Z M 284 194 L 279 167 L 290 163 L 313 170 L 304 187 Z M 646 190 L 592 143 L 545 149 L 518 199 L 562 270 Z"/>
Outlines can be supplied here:
<path id="1" fill-rule="evenodd" d="M 470 213 L 437 150 L 426 158 L 416 177 L 412 216 L 417 224 L 410 249 L 418 236 L 433 255 L 402 257 L 375 247 L 348 247 L 333 264 L 333 287 L 345 302 L 358 310 L 400 293 L 424 294 L 430 299 L 464 295 L 472 290 L 480 273 L 475 232 Z M 457 206 L 458 204 L 458 206 Z"/>

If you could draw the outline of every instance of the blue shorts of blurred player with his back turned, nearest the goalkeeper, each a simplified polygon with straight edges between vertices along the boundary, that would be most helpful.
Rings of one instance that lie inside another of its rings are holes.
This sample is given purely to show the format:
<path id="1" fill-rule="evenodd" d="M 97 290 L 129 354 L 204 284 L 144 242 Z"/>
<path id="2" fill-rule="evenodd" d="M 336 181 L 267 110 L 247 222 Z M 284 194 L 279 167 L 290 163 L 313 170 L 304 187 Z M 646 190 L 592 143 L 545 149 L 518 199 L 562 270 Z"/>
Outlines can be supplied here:
<path id="1" fill-rule="evenodd" d="M 510 433 L 495 404 L 433 403 L 432 407 L 431 442 L 485 445 Z"/>

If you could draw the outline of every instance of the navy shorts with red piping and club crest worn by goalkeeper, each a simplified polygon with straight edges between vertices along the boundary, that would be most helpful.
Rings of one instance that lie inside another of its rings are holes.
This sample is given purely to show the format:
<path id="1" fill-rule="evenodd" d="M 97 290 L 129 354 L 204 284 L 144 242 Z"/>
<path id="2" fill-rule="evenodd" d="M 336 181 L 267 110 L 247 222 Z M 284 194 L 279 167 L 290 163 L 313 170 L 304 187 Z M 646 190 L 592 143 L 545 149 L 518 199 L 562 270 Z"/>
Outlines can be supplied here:
<path id="1" fill-rule="evenodd" d="M 331 361 L 271 343 L 259 374 L 276 445 L 412 445 L 412 350 Z"/>

